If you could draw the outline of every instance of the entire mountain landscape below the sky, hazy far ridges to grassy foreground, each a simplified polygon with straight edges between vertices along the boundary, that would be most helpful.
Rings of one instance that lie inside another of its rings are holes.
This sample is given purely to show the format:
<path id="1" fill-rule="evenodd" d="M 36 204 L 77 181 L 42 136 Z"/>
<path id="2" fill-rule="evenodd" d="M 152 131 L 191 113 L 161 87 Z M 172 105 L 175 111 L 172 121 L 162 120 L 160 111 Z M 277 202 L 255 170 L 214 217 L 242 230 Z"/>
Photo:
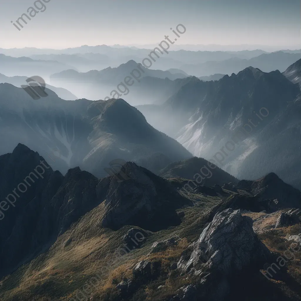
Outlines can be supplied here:
<path id="1" fill-rule="evenodd" d="M 0 49 L 1 300 L 301 298 L 300 54 L 150 51 Z"/>

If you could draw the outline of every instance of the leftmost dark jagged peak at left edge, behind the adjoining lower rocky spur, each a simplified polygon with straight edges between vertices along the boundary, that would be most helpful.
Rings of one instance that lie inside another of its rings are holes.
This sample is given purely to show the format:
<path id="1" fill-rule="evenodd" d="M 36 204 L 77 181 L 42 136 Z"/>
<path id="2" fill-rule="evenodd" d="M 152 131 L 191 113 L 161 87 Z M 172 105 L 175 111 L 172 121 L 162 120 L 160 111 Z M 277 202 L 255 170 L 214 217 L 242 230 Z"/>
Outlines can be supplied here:
<path id="1" fill-rule="evenodd" d="M 11 268 L 16 268 L 27 254 L 35 252 L 31 242 L 35 241 L 32 234 L 36 231 L 36 220 L 61 185 L 63 176 L 53 172 L 44 158 L 22 144 L 18 144 L 12 154 L 0 156 L 0 166 L 0 210 L 3 213 L 0 256 L 6 258 L 1 278 Z"/>

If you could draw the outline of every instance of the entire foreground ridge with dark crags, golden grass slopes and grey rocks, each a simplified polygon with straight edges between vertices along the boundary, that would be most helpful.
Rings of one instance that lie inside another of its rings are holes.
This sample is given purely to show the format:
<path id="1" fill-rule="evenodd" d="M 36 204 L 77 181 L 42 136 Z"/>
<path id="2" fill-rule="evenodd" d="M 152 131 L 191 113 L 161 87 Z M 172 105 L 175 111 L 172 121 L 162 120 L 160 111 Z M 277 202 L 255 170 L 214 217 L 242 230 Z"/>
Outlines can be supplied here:
<path id="1" fill-rule="evenodd" d="M 275 174 L 179 194 L 176 179 L 131 162 L 102 179 L 78 167 L 63 176 L 21 144 L 0 165 L 1 200 L 16 187 L 22 197 L 1 203 L 5 301 L 301 297 L 300 254 L 283 255 L 300 238 L 301 210 L 280 209 L 301 208 L 301 193 Z M 35 169 L 44 178 L 29 187 Z M 32 190 L 20 192 L 21 182 Z M 273 272 L 280 256 L 286 264 Z"/>

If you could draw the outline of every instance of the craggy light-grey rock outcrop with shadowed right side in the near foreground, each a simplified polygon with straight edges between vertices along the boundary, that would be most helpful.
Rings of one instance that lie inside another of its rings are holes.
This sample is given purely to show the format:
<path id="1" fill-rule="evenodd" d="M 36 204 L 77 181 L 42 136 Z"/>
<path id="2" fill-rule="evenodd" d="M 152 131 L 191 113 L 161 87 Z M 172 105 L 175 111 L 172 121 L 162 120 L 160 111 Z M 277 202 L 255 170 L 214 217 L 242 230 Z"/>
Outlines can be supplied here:
<path id="1" fill-rule="evenodd" d="M 270 252 L 252 225 L 252 219 L 241 216 L 240 210 L 224 210 L 203 230 L 190 257 L 183 254 L 178 269 L 202 277 L 197 287 L 199 298 L 223 300 L 230 289 L 228 279 L 258 271 L 268 261 Z"/>

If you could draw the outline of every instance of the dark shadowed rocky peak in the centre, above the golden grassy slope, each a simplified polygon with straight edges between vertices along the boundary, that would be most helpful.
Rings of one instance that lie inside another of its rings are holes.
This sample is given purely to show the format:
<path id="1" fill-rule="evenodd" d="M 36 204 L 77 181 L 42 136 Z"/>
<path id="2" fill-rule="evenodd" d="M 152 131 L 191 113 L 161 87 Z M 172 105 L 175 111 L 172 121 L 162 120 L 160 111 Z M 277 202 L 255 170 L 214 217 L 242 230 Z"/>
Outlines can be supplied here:
<path id="1" fill-rule="evenodd" d="M 128 162 L 122 167 L 129 179 L 111 178 L 106 198 L 104 227 L 136 225 L 158 231 L 181 223 L 175 209 L 190 204 L 171 184 L 152 172 Z"/>

